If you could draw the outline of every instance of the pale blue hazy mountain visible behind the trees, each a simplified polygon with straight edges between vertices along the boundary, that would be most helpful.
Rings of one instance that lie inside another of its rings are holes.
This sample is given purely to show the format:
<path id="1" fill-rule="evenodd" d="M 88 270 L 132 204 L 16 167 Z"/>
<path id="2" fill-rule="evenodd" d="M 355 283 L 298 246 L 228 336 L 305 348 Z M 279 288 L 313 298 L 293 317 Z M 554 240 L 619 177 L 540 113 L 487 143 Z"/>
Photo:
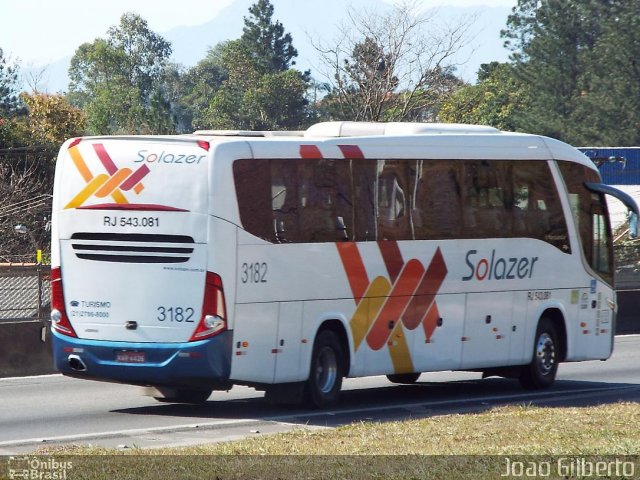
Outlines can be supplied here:
<path id="1" fill-rule="evenodd" d="M 244 17 L 255 0 L 235 0 L 221 10 L 213 19 L 200 25 L 178 27 L 167 32 L 160 32 L 171 42 L 172 60 L 190 67 L 203 59 L 207 50 L 217 43 L 239 38 L 242 35 Z M 293 45 L 298 50 L 296 67 L 300 70 L 311 70 L 311 74 L 319 81 L 324 78 L 322 64 L 314 44 L 335 44 L 338 38 L 339 25 L 348 15 L 348 9 L 354 11 L 384 11 L 391 8 L 382 0 L 322 0 L 300 2 L 299 0 L 273 0 L 274 19 L 280 21 L 285 31 L 291 33 Z M 474 82 L 476 72 L 482 63 L 491 61 L 504 62 L 508 51 L 502 46 L 500 30 L 506 24 L 510 9 L 507 7 L 438 7 L 427 9 L 426 15 L 434 16 L 437 22 L 451 23 L 463 17 L 474 16 L 470 29 L 468 44 L 462 48 L 455 58 L 458 75 L 467 82 Z M 42 71 L 42 67 L 26 69 L 26 76 L 41 74 L 38 87 L 49 92 L 66 91 L 68 88 L 67 71 L 73 52 Z"/>

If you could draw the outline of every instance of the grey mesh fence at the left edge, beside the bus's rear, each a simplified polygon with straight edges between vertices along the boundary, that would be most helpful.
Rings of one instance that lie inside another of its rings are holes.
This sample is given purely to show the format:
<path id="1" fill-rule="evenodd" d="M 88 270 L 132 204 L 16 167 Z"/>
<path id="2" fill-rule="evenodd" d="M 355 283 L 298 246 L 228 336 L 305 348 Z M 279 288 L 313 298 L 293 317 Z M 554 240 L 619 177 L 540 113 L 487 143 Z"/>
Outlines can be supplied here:
<path id="1" fill-rule="evenodd" d="M 0 322 L 49 319 L 51 267 L 0 264 Z"/>

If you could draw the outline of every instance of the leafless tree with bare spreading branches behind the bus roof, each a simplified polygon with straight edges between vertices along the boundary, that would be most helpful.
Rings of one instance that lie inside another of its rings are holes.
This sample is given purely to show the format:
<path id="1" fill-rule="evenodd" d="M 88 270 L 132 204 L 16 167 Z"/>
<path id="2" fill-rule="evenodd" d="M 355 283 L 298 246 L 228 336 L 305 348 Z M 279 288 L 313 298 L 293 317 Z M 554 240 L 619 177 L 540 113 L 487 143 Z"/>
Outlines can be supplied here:
<path id="1" fill-rule="evenodd" d="M 330 85 L 330 111 L 348 120 L 430 120 L 461 82 L 454 55 L 473 18 L 444 25 L 401 4 L 389 12 L 350 12 L 335 45 L 316 45 Z"/>

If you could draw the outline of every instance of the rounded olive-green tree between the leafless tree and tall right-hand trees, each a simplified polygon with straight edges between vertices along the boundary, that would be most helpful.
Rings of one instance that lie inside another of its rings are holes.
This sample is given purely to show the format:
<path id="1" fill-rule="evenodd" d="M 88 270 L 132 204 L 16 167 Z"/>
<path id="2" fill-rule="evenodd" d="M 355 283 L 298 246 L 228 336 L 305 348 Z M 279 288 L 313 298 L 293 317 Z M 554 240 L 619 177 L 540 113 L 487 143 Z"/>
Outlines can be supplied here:
<path id="1" fill-rule="evenodd" d="M 476 85 L 465 85 L 447 98 L 439 112 L 444 122 L 491 125 L 518 131 L 529 90 L 508 63 L 483 64 Z"/>

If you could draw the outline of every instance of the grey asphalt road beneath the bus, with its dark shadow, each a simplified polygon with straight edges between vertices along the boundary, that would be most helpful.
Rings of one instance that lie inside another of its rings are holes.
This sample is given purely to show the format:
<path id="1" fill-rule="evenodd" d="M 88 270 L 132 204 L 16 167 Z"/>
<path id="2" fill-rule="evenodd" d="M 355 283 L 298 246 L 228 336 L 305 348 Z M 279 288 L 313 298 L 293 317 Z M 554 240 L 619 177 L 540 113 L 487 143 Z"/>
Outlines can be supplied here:
<path id="1" fill-rule="evenodd" d="M 481 411 L 509 403 L 583 406 L 640 402 L 640 335 L 616 338 L 606 362 L 560 366 L 553 388 L 529 392 L 517 381 L 480 374 L 423 374 L 415 385 L 385 377 L 347 379 L 340 404 L 319 412 L 269 405 L 261 392 L 234 387 L 201 406 L 158 403 L 140 387 L 60 375 L 0 379 L 0 455 L 51 444 L 130 448 L 212 443 L 292 428 Z"/>

